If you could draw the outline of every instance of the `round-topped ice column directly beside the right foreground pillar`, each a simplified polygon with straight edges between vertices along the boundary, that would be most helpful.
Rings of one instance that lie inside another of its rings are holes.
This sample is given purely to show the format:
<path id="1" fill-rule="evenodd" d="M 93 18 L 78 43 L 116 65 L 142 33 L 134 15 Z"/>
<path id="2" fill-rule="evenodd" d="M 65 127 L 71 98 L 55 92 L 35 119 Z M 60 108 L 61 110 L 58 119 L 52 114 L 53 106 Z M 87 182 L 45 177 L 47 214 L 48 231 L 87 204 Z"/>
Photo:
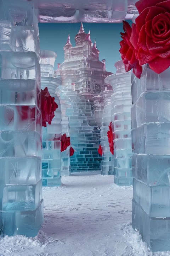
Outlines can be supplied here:
<path id="1" fill-rule="evenodd" d="M 122 60 L 115 63 L 116 74 L 107 77 L 113 87 L 111 121 L 114 141 L 114 183 L 132 185 L 131 75 Z"/>

